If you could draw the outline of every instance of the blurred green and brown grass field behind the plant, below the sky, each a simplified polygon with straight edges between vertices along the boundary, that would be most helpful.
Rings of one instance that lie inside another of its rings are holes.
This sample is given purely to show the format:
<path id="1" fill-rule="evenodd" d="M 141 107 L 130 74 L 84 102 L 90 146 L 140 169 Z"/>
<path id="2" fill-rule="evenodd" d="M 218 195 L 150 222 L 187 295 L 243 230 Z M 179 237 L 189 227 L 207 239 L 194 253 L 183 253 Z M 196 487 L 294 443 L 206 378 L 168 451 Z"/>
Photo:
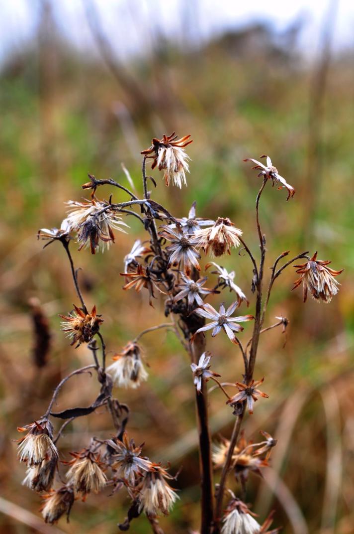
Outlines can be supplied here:
<path id="1" fill-rule="evenodd" d="M 230 46 L 234 41 L 236 48 Z M 280 414 L 286 403 L 296 398 L 296 392 L 306 391 L 307 400 L 299 417 L 288 429 L 288 444 L 278 469 L 311 534 L 351 532 L 354 285 L 350 273 L 354 250 L 350 191 L 354 164 L 354 74 L 348 66 L 353 53 L 335 58 L 330 66 L 319 141 L 321 175 L 316 182 L 313 180 L 314 190 L 306 169 L 309 93 L 316 65 L 307 66 L 291 49 L 277 49 L 271 33 L 267 45 L 258 46 L 253 39 L 253 46 L 237 48 L 237 35 L 234 41 L 231 35 L 226 41 L 221 38 L 201 50 L 185 53 L 166 44 L 164 54 L 132 62 L 129 68 L 151 101 L 151 107 L 143 110 L 98 60 L 78 57 L 54 38 L 52 41 L 47 38 L 39 55 L 29 47 L 28 52 L 24 50 L 21 55 L 9 58 L 3 69 L 0 480 L 7 485 L 6 498 L 23 508 L 36 512 L 38 498 L 21 488 L 24 469 L 17 464 L 15 447 L 9 446 L 9 440 L 17 437 L 16 426 L 38 418 L 44 411 L 61 375 L 90 361 L 84 347 L 77 350 L 68 347 L 59 331 L 58 313 L 69 311 L 75 300 L 63 251 L 56 244 L 42 251 L 42 244 L 35 239 L 36 231 L 39 227 L 60 224 L 65 215 L 63 202 L 84 196 L 81 184 L 86 182 L 87 172 L 125 184 L 120 167 L 124 162 L 140 190 L 139 151 L 149 146 L 152 136 L 176 130 L 180 135 L 191 133 L 194 138 L 188 150 L 192 158 L 188 188 L 165 189 L 162 176 L 156 171 L 152 173 L 158 183 L 154 198 L 166 203 L 175 216 L 186 215 L 191 202 L 197 200 L 199 216 L 230 217 L 257 251 L 253 209 L 260 182 L 242 160 L 268 153 L 296 188 L 296 195 L 286 203 L 284 191 L 267 186 L 264 192 L 261 219 L 269 249 L 267 266 L 283 250 L 291 249 L 296 255 L 302 250 L 317 249 L 320 258 L 333 260 L 335 269 L 345 268 L 340 277 L 340 293 L 329 306 L 313 301 L 303 305 L 301 291 L 289 291 L 294 279 L 292 268 L 276 282 L 266 325 L 273 323 L 274 316 L 287 316 L 291 321 L 288 342 L 282 349 L 283 336 L 276 331 L 262 339 L 256 378 L 265 375 L 264 391 L 270 399 L 258 403 L 253 418 L 247 420 L 246 430 L 253 439 L 257 439 L 260 429 L 268 430 L 277 435 L 280 444 L 282 436 L 277 434 L 279 427 L 281 430 Z M 108 198 L 110 192 L 114 199 L 122 198 L 109 188 L 98 194 Z M 305 203 L 309 195 L 310 206 Z M 112 352 L 141 329 L 163 321 L 159 302 L 152 310 L 145 294 L 122 292 L 119 272 L 123 257 L 134 237 L 141 235 L 138 224 L 135 221 L 130 224 L 130 234 L 119 235 L 108 254 L 91 257 L 86 252 L 74 253 L 76 265 L 83 268 L 79 278 L 85 286 L 86 299 L 96 303 L 104 316 L 103 332 Z M 248 258 L 235 252 L 221 263 L 235 269 L 237 284 L 251 297 Z M 34 295 L 42 302 L 53 329 L 50 363 L 39 376 L 30 359 L 28 299 Z M 222 298 L 229 302 L 232 296 L 225 293 Z M 218 297 L 212 301 L 216 303 Z M 251 301 L 251 313 L 253 308 Z M 246 341 L 250 333 L 251 327 L 246 326 L 242 339 Z M 170 519 L 162 519 L 161 524 L 167 534 L 186 531 L 191 524 L 197 528 L 199 513 L 194 392 L 189 362 L 172 334 L 148 334 L 143 345 L 150 365 L 149 382 L 138 391 L 118 391 L 117 396 L 131 406 L 128 430 L 136 442 L 146 442 L 148 456 L 156 461 L 168 460 L 164 454 L 167 449 L 172 455 L 172 471 L 183 465 L 176 482 L 181 501 Z M 242 364 L 228 340 L 208 337 L 208 347 L 215 354 L 214 368 L 222 379 L 238 380 Z M 87 385 L 89 382 L 85 376 L 75 379 L 72 387 L 68 386 L 60 396 L 60 407 L 69 407 L 78 398 L 82 405 L 90 403 L 97 387 Z M 334 524 L 324 528 L 321 527 L 326 507 L 324 488 L 331 473 L 326 468 L 328 421 L 321 395 L 329 387 L 334 389 L 340 407 L 337 422 L 344 476 Z M 215 438 L 219 432 L 228 436 L 232 416 L 217 391 L 211 394 L 210 407 Z M 62 439 L 63 453 L 84 447 L 90 432 L 106 435 L 109 429 L 109 418 L 104 412 L 74 421 Z M 251 477 L 247 501 L 256 500 L 260 484 L 263 488 L 259 479 Z M 268 509 L 263 509 L 260 501 L 255 511 L 262 511 L 263 520 Z M 283 524 L 287 534 L 294 530 L 281 502 L 280 494 L 276 493 L 275 499 L 270 496 L 269 505 L 277 509 L 276 524 Z M 126 506 L 127 500 L 119 494 L 109 499 L 90 497 L 85 504 L 77 502 L 69 525 L 61 521 L 59 526 L 76 533 L 116 532 L 115 525 L 123 521 Z M 6 516 L 0 519 L 0 529 L 31 531 Z M 143 534 L 149 531 L 149 525 L 143 519 L 136 520 L 132 531 Z"/>

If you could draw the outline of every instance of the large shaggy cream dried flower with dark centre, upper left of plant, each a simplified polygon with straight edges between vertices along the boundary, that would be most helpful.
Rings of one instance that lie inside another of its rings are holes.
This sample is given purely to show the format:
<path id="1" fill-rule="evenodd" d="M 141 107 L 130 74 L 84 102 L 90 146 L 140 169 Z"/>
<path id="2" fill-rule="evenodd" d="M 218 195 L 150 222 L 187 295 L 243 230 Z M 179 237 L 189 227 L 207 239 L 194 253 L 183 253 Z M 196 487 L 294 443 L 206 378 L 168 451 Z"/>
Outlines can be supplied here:
<path id="1" fill-rule="evenodd" d="M 121 226 L 129 227 L 108 202 L 96 199 L 87 202 L 69 200 L 67 205 L 72 210 L 63 223 L 67 224 L 70 231 L 78 233 L 77 242 L 81 243 L 79 250 L 86 245 L 90 246 L 92 254 L 97 248 L 104 252 L 110 242 L 115 242 L 113 229 L 126 233 Z"/>

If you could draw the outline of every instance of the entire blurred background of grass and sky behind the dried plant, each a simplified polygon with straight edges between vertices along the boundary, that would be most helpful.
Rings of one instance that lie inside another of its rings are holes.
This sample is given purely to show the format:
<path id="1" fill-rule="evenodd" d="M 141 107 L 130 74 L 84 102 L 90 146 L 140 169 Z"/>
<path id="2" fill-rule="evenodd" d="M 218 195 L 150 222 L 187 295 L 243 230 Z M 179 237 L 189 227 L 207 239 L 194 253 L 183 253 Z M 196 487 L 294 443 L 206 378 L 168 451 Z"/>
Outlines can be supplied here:
<path id="1" fill-rule="evenodd" d="M 258 251 L 254 200 L 260 179 L 243 163 L 269 154 L 296 189 L 265 189 L 261 218 L 268 264 L 283 250 L 318 250 L 319 259 L 345 268 L 339 295 L 329 305 L 290 292 L 293 268 L 277 280 L 265 326 L 288 317 L 285 348 L 278 329 L 264 334 L 255 378 L 265 376 L 269 400 L 247 418 L 246 435 L 260 430 L 279 439 L 264 481 L 250 476 L 247 502 L 262 522 L 276 509 L 285 534 L 351 534 L 354 531 L 354 8 L 352 2 L 244 3 L 211 0 L 12 0 L 0 1 L 0 173 L 2 194 L 0 309 L 1 431 L 0 531 L 117 531 L 128 501 L 90 496 L 77 501 L 70 524 L 49 528 L 39 519 L 39 498 L 21 486 L 25 467 L 16 459 L 17 426 L 38 418 L 62 376 L 91 363 L 89 351 L 68 346 L 58 313 L 76 302 L 60 245 L 42 250 L 38 228 L 59 226 L 63 202 L 85 195 L 87 172 L 127 185 L 121 164 L 141 190 L 140 151 L 152 137 L 192 134 L 188 187 L 157 181 L 155 200 L 177 217 L 197 200 L 197 214 L 228 216 Z M 117 190 L 99 197 L 125 200 Z M 89 194 L 86 194 L 89 197 Z M 122 292 L 123 257 L 142 237 L 130 220 L 128 235 L 104 255 L 78 253 L 86 302 L 104 316 L 109 351 L 148 326 L 164 321 L 163 307 L 147 295 Z M 250 298 L 252 273 L 246 256 L 222 258 Z M 268 272 L 268 270 L 267 270 Z M 212 282 L 208 287 L 212 287 Z M 232 295 L 223 296 L 227 303 Z M 34 357 L 33 299 L 49 320 L 50 351 Z M 216 307 L 218 296 L 210 302 Z M 31 305 L 32 303 L 32 305 Z M 246 308 L 242 308 L 243 313 Z M 243 333 L 247 340 L 251 326 Z M 219 335 L 208 347 L 224 381 L 240 379 L 237 349 Z M 132 409 L 128 431 L 155 461 L 170 461 L 181 500 L 161 520 L 166 534 L 198 528 L 198 452 L 194 389 L 186 354 L 172 333 L 143 338 L 149 381 L 117 391 Z M 109 358 L 111 353 L 109 354 Z M 44 365 L 43 365 L 44 364 Z M 39 367 L 39 365 L 42 365 Z M 58 410 L 88 405 L 97 394 L 89 376 L 62 392 Z M 234 418 L 218 391 L 210 396 L 213 439 L 229 437 Z M 107 436 L 102 410 L 71 423 L 61 439 L 62 458 Z M 220 473 L 216 473 L 215 481 Z M 230 487 L 237 492 L 230 478 Z M 6 488 L 6 490 L 5 490 Z M 109 492 L 107 492 L 108 494 Z M 38 518 L 38 519 L 37 519 Z M 150 525 L 135 520 L 131 531 Z"/>

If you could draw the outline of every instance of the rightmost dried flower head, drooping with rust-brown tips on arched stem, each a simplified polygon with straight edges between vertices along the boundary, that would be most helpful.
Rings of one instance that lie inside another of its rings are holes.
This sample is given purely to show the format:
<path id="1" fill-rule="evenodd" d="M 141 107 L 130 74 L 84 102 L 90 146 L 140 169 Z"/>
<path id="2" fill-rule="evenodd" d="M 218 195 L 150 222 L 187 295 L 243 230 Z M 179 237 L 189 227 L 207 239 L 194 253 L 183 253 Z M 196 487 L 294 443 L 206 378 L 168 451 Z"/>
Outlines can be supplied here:
<path id="1" fill-rule="evenodd" d="M 323 300 L 323 302 L 331 302 L 332 297 L 338 293 L 339 282 L 334 278 L 343 272 L 335 271 L 329 268 L 327 265 L 331 261 L 316 260 L 317 252 L 313 254 L 311 260 L 302 265 L 294 265 L 296 272 L 301 274 L 300 278 L 295 280 L 294 287 L 299 287 L 303 281 L 303 301 L 307 300 L 307 293 L 310 290 L 312 298 L 317 302 Z"/>

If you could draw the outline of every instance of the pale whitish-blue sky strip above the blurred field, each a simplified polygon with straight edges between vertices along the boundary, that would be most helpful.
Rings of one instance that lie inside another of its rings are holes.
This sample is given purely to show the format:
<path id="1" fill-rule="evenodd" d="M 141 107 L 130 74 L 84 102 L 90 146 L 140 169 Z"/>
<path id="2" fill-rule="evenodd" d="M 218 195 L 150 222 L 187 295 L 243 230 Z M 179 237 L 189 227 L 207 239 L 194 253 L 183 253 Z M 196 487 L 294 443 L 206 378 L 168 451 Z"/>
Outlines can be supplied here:
<path id="1" fill-rule="evenodd" d="M 334 49 L 354 47 L 353 0 L 51 0 L 61 32 L 80 50 L 94 49 L 84 9 L 91 1 L 120 57 L 147 49 L 156 28 L 181 43 L 188 31 L 205 40 L 224 29 L 266 20 L 281 32 L 299 18 L 305 21 L 300 44 L 311 57 L 328 7 L 336 3 Z M 41 4 L 41 0 L 0 0 L 0 60 L 34 35 Z"/>

